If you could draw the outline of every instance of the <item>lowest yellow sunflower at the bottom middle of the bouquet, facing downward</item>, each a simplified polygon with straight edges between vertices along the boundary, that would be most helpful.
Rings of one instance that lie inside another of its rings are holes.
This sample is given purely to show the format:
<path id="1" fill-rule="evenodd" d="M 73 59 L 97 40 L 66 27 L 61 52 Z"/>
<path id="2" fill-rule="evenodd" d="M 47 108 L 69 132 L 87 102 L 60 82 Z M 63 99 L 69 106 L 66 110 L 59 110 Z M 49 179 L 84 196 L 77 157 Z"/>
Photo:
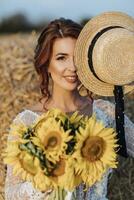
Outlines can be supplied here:
<path id="1" fill-rule="evenodd" d="M 49 176 L 45 175 L 44 170 L 39 169 L 34 176 L 34 187 L 41 191 L 47 189 L 57 191 L 58 188 L 61 190 L 73 190 L 82 180 L 79 175 L 75 174 L 73 165 L 74 160 L 71 157 L 69 159 L 60 158 L 55 163 L 55 167 L 53 167 Z"/>

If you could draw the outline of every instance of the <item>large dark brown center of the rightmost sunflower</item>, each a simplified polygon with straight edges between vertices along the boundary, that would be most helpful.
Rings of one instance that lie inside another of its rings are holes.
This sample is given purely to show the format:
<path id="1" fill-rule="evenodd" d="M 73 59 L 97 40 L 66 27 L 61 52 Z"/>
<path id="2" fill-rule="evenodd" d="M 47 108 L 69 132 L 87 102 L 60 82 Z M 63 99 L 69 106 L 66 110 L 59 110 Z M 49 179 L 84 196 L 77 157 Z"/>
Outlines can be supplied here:
<path id="1" fill-rule="evenodd" d="M 99 136 L 87 138 L 81 149 L 82 156 L 90 162 L 97 161 L 102 157 L 105 146 L 105 141 Z"/>

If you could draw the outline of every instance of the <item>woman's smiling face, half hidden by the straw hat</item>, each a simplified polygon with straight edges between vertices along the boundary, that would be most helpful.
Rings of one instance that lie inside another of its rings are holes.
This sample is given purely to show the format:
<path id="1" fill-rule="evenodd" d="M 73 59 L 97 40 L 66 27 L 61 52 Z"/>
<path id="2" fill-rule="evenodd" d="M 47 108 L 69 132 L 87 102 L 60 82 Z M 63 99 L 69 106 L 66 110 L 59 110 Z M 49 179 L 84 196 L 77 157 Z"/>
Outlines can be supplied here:
<path id="1" fill-rule="evenodd" d="M 78 77 L 74 66 L 74 47 L 76 39 L 58 38 L 53 43 L 48 72 L 55 86 L 66 90 L 74 90 L 78 85 Z"/>

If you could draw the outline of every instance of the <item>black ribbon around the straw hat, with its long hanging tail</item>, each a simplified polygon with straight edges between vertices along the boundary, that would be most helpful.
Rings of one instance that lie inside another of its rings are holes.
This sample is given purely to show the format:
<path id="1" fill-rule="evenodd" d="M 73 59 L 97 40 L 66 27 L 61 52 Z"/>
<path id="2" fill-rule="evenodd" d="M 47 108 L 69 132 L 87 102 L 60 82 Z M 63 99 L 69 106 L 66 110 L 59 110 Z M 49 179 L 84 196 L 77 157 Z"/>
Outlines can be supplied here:
<path id="1" fill-rule="evenodd" d="M 92 54 L 93 54 L 93 48 L 95 46 L 96 41 L 98 38 L 105 33 L 108 30 L 114 29 L 114 28 L 123 28 L 121 26 L 110 26 L 107 28 L 104 28 L 103 30 L 99 31 L 95 37 L 93 38 L 89 49 L 88 49 L 88 64 L 89 67 L 93 73 L 93 75 L 99 79 L 100 81 L 104 82 L 101 80 L 93 67 L 93 60 L 92 60 Z M 124 129 L 124 94 L 123 94 L 123 87 L 119 85 L 114 86 L 114 97 L 115 97 L 115 120 L 116 120 L 116 132 L 117 132 L 117 137 L 118 137 L 118 144 L 120 148 L 118 149 L 118 154 L 123 156 L 123 157 L 128 157 L 127 154 L 127 149 L 126 149 L 126 141 L 125 141 L 125 129 Z"/>

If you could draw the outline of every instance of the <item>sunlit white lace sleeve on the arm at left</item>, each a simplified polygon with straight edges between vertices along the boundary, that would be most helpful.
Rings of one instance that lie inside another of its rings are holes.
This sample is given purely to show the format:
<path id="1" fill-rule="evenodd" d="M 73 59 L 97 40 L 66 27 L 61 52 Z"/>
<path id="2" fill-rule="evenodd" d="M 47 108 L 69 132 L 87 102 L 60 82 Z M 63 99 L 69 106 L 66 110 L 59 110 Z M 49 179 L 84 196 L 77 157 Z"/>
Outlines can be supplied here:
<path id="1" fill-rule="evenodd" d="M 29 110 L 22 111 L 13 120 L 13 123 L 24 123 L 30 125 L 36 119 L 37 114 Z M 15 140 L 11 137 L 10 129 L 8 140 Z M 50 190 L 43 193 L 33 188 L 32 184 L 21 180 L 19 176 L 13 175 L 12 166 L 7 165 L 5 180 L 5 200 L 47 200 Z"/>

